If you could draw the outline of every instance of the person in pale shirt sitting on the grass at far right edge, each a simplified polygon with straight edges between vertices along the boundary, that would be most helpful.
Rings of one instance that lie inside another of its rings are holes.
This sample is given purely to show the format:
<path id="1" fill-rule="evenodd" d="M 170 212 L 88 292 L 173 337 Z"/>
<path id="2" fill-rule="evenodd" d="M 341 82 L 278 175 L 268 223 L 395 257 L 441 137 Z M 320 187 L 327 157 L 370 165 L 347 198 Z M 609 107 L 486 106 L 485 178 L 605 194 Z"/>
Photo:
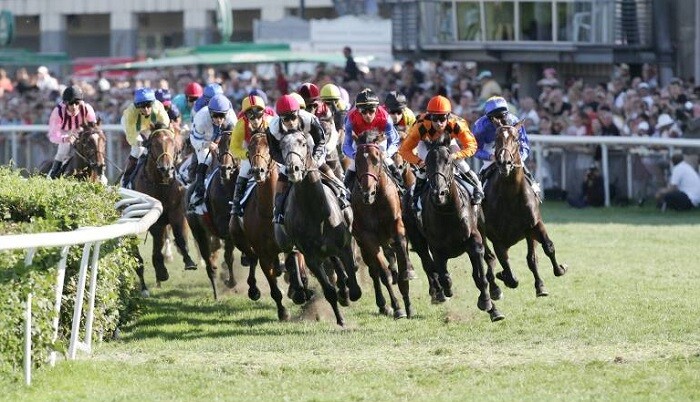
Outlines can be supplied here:
<path id="1" fill-rule="evenodd" d="M 673 168 L 666 188 L 656 193 L 658 207 L 687 211 L 700 204 L 700 176 L 683 158 L 683 154 L 671 157 Z"/>

